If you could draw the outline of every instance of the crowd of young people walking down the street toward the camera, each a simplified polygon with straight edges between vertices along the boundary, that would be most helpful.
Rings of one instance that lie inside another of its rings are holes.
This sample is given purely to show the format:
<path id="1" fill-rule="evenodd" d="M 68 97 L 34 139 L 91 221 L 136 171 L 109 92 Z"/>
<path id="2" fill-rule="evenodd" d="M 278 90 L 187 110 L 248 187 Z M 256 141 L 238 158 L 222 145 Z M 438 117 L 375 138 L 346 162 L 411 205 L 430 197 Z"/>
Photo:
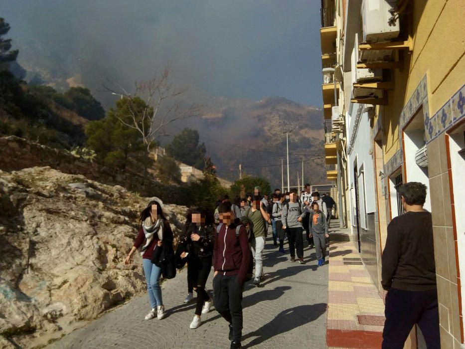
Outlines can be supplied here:
<path id="1" fill-rule="evenodd" d="M 187 264 L 187 296 L 184 303 L 194 298 L 196 307 L 190 329 L 201 325 L 202 314 L 216 311 L 229 324 L 231 348 L 240 348 L 242 337 L 242 292 L 246 281 L 260 285 L 264 278 L 263 250 L 271 224 L 273 245 L 285 253 L 284 242 L 288 239 L 291 262 L 297 258 L 304 264 L 303 231 L 308 232 L 309 247 L 315 246 L 318 265 L 324 263 L 328 235 L 328 210 L 317 192 L 306 186 L 301 197 L 297 190 L 284 194 L 279 189 L 268 200 L 255 187 L 253 194 L 235 203 L 223 195 L 215 212 L 207 208 L 192 207 L 188 210 L 184 227 L 179 235 L 172 263 L 177 268 Z M 332 200 L 332 199 L 331 199 Z M 330 214 L 330 213 L 329 213 Z M 310 240 L 312 239 L 312 240 Z M 142 211 L 140 229 L 134 246 L 125 259 L 128 264 L 139 250 L 143 258 L 144 273 L 151 310 L 146 320 L 163 319 L 166 315 L 161 296 L 160 277 L 163 263 L 169 260 L 165 247 L 173 243 L 173 233 L 162 205 L 154 200 Z M 206 291 L 206 282 L 213 266 L 213 296 Z M 255 273 L 253 274 L 253 268 Z M 164 275 L 163 275 L 164 276 Z"/>

